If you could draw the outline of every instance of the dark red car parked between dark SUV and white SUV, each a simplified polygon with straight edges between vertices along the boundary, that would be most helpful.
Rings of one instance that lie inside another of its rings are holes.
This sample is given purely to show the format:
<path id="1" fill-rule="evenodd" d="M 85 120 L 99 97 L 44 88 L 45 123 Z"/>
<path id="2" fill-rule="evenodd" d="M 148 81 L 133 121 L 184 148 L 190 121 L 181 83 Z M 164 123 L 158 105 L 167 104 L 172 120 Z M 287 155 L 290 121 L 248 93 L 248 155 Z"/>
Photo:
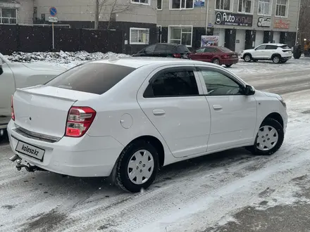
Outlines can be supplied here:
<path id="1" fill-rule="evenodd" d="M 221 46 L 204 46 L 199 48 L 190 53 L 190 59 L 225 65 L 226 67 L 230 67 L 239 61 L 238 53 Z"/>

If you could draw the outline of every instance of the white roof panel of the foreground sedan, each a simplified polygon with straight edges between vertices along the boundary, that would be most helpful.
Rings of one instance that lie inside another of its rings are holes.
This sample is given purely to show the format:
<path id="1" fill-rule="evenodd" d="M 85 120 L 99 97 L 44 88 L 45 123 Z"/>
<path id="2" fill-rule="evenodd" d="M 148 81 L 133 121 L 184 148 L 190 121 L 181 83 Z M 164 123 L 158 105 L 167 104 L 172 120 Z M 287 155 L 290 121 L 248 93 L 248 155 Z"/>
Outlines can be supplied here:
<path id="1" fill-rule="evenodd" d="M 212 67 L 218 67 L 213 63 L 205 63 L 197 60 L 187 60 L 178 58 L 154 58 L 154 57 L 124 57 L 116 58 L 113 60 L 94 60 L 90 63 L 107 63 L 113 65 L 122 65 L 127 67 L 139 68 L 146 65 L 210 65 Z"/>

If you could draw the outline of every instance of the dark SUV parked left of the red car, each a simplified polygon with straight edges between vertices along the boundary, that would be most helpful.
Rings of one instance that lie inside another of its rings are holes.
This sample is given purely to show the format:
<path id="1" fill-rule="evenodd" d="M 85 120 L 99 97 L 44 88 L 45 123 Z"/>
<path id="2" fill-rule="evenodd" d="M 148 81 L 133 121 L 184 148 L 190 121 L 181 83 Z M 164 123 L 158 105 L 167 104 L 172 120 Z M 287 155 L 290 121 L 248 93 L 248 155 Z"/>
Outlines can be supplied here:
<path id="1" fill-rule="evenodd" d="M 152 44 L 132 56 L 154 56 L 154 57 L 174 57 L 188 58 L 190 50 L 187 46 L 181 44 Z"/>

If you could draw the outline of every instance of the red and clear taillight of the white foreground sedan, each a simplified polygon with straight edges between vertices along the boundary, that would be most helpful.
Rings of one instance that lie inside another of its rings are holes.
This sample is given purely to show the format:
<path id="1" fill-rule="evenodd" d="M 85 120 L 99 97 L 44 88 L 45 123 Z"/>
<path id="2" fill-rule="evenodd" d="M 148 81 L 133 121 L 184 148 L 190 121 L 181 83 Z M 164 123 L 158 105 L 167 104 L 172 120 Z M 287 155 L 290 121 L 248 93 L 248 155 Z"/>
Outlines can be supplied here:
<path id="1" fill-rule="evenodd" d="M 68 113 L 66 136 L 81 137 L 92 125 L 96 111 L 89 107 L 71 107 Z"/>

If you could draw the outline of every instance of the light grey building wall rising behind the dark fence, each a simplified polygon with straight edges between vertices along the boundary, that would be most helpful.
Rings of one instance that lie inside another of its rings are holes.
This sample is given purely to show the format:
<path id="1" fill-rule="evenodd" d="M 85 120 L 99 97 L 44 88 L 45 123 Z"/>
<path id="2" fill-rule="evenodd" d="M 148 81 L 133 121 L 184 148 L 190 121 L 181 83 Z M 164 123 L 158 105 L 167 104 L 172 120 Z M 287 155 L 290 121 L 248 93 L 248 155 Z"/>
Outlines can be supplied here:
<path id="1" fill-rule="evenodd" d="M 125 53 L 157 42 L 156 2 L 151 0 L 100 0 L 99 29 L 122 30 Z M 95 0 L 0 0 L 2 24 L 51 24 L 49 9 L 57 9 L 58 25 L 94 28 Z M 104 42 L 104 41 L 103 41 Z"/>

